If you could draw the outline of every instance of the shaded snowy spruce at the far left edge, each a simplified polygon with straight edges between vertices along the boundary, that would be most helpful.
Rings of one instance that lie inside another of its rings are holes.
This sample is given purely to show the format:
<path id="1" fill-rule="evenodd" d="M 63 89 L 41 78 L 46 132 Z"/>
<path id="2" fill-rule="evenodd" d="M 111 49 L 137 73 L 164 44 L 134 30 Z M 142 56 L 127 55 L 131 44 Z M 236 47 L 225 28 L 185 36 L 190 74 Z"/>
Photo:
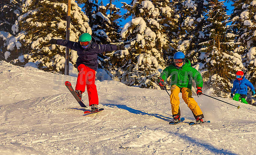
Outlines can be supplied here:
<path id="1" fill-rule="evenodd" d="M 2 0 L 0 2 L 0 60 L 10 61 L 16 58 L 13 55 L 10 56 L 11 53 L 7 50 L 7 45 L 10 40 L 9 36 L 14 35 L 11 30 L 12 25 L 22 13 L 20 5 L 22 5 L 21 0 Z M 18 54 L 18 50 L 15 53 Z"/>

